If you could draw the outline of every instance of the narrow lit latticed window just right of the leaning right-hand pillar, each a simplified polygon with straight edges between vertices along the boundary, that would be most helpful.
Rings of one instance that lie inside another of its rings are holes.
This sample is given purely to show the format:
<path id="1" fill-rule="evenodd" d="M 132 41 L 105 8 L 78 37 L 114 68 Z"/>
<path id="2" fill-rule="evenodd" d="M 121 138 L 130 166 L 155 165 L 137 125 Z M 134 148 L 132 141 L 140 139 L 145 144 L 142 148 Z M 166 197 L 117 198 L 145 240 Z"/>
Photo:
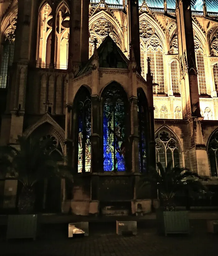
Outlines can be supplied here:
<path id="1" fill-rule="evenodd" d="M 206 94 L 206 79 L 205 79 L 205 68 L 204 68 L 204 55 L 201 50 L 196 52 L 196 62 L 197 62 L 197 73 L 198 73 L 198 86 L 199 93 Z"/>

